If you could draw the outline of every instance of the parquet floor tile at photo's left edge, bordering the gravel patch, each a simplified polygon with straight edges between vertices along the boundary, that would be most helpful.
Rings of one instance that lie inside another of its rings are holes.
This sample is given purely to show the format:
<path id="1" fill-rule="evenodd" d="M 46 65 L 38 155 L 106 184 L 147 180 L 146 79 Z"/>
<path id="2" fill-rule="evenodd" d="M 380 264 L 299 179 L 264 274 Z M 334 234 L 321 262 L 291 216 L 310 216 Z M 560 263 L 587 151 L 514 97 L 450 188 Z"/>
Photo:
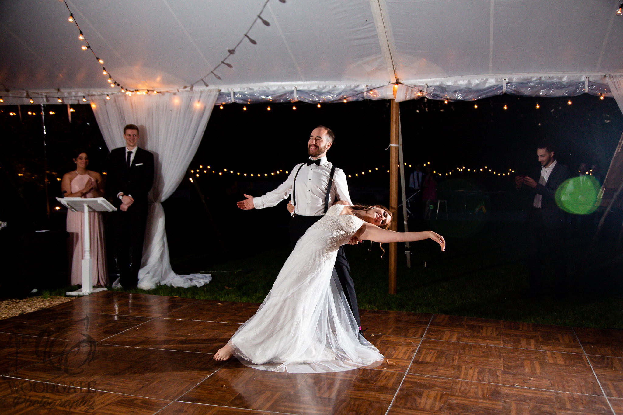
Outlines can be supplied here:
<path id="1" fill-rule="evenodd" d="M 97 342 L 148 320 L 130 315 L 43 309 L 0 320 L 0 332 Z"/>

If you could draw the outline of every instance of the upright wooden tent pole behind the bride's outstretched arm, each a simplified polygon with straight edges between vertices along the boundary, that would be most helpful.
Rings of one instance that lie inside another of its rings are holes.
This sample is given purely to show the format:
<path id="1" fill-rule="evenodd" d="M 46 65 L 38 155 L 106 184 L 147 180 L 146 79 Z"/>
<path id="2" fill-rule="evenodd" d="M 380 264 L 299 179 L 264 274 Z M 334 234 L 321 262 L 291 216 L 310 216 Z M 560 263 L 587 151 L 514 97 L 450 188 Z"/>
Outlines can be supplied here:
<path id="1" fill-rule="evenodd" d="M 389 210 L 394 215 L 394 220 L 389 225 L 389 230 L 398 230 L 398 128 L 399 108 L 396 100 L 389 101 L 390 127 L 389 127 Z M 389 294 L 396 294 L 396 274 L 398 267 L 398 244 L 389 244 Z"/>

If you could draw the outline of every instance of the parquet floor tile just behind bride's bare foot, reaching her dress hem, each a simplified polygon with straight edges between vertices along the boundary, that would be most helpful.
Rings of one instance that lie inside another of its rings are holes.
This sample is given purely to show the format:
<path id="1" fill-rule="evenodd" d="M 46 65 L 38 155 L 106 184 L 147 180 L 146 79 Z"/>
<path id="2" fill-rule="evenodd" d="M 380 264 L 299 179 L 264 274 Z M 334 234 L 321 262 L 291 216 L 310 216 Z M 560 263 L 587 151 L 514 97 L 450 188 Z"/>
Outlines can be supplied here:
<path id="1" fill-rule="evenodd" d="M 216 353 L 239 324 L 199 320 L 153 319 L 103 340 L 102 344 Z"/>

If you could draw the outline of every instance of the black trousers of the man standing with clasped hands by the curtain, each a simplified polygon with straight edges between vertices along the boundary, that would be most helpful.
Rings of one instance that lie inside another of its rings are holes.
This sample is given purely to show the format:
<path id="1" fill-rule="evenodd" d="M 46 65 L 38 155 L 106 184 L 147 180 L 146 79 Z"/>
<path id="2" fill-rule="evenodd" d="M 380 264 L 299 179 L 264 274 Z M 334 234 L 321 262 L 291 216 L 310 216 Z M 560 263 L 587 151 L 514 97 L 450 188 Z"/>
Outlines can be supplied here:
<path id="1" fill-rule="evenodd" d="M 126 212 L 118 210 L 114 215 L 119 283 L 123 288 L 133 288 L 138 284 L 138 270 L 143 259 L 147 205 L 134 203 Z"/>

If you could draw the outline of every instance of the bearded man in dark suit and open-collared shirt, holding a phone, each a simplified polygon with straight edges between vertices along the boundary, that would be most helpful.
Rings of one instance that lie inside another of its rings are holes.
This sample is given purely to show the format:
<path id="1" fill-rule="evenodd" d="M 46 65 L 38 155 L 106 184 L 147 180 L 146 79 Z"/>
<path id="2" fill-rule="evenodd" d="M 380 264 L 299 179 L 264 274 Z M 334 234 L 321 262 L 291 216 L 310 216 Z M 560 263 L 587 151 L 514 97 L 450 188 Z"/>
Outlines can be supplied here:
<path id="1" fill-rule="evenodd" d="M 528 211 L 528 273 L 530 289 L 536 296 L 543 291 L 541 277 L 541 246 L 545 243 L 553 256 L 555 288 L 564 291 L 566 264 L 561 246 L 564 227 L 564 212 L 556 204 L 556 189 L 569 178 L 567 166 L 559 164 L 554 158 L 554 148 L 544 141 L 536 149 L 541 168 L 531 175 L 515 177 L 517 189 L 528 186 L 534 189 L 535 198 Z"/>

